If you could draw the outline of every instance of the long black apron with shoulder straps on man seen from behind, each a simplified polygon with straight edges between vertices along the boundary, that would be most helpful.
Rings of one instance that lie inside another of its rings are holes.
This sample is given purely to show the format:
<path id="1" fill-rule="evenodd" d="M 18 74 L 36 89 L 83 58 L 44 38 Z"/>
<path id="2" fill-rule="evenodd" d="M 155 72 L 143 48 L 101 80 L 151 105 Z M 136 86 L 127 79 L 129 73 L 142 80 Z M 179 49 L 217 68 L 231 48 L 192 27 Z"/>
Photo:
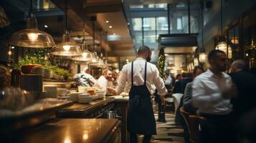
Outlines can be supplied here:
<path id="1" fill-rule="evenodd" d="M 146 87 L 146 69 L 144 84 L 133 85 L 133 62 L 131 64 L 131 90 L 129 92 L 129 107 L 127 128 L 133 134 L 156 134 L 156 120 L 153 114 L 151 93 Z"/>

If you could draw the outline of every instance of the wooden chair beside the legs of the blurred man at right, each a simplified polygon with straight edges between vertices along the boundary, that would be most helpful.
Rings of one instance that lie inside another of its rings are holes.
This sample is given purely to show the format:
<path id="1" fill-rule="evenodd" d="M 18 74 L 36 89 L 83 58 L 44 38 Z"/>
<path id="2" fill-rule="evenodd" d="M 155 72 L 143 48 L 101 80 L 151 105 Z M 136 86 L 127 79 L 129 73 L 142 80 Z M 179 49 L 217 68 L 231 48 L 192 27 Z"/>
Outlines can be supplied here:
<path id="1" fill-rule="evenodd" d="M 184 111 L 183 107 L 181 107 L 180 112 L 189 129 L 190 142 L 198 142 L 200 137 L 199 124 L 204 122 L 205 118 L 196 116 L 195 114 L 189 114 L 189 112 Z"/>

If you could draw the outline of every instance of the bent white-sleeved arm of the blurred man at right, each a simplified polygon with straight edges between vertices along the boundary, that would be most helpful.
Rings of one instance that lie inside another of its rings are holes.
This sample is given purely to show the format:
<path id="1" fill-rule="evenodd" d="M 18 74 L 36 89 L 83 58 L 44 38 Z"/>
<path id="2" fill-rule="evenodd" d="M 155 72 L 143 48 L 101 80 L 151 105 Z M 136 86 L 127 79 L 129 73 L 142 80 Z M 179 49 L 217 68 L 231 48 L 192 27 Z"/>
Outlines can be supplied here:
<path id="1" fill-rule="evenodd" d="M 222 95 L 219 92 L 206 94 L 203 80 L 198 78 L 194 79 L 192 85 L 192 103 L 194 107 L 207 109 L 221 99 Z"/>

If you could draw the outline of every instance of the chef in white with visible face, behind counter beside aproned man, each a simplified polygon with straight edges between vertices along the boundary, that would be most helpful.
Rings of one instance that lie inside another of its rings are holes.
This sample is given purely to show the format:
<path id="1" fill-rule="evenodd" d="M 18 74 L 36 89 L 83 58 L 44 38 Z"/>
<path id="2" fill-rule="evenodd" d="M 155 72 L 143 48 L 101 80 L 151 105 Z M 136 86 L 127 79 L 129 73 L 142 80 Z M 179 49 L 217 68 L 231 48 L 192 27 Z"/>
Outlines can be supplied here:
<path id="1" fill-rule="evenodd" d="M 103 75 L 97 80 L 94 87 L 100 87 L 101 89 L 106 90 L 107 87 L 112 87 L 112 71 L 110 69 L 103 69 Z"/>

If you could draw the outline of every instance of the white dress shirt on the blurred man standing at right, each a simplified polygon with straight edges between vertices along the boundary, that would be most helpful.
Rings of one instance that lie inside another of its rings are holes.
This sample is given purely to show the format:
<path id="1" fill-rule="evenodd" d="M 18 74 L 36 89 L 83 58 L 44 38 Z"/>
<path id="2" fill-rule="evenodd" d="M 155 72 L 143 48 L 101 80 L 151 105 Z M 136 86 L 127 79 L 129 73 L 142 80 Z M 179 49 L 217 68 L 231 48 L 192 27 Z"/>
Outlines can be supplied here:
<path id="1" fill-rule="evenodd" d="M 232 111 L 230 99 L 223 99 L 222 93 L 232 86 L 232 79 L 222 72 L 221 77 L 207 69 L 194 79 L 192 85 L 192 102 L 199 113 L 203 114 L 229 114 Z"/>

